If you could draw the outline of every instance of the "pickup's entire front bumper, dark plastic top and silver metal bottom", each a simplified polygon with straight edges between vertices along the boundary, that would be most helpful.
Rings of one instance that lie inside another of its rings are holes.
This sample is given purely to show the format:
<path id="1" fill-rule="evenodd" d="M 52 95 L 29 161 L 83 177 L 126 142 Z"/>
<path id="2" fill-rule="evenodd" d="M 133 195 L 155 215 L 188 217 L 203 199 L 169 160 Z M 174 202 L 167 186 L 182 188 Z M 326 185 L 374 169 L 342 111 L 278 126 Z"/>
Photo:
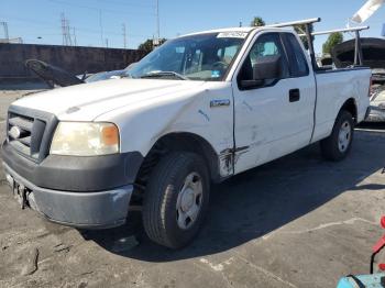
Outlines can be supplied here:
<path id="1" fill-rule="evenodd" d="M 41 163 L 6 141 L 2 165 L 13 193 L 48 220 L 82 229 L 124 224 L 143 157 L 122 153 L 97 157 L 48 155 Z M 19 188 L 22 189 L 19 189 Z"/>

